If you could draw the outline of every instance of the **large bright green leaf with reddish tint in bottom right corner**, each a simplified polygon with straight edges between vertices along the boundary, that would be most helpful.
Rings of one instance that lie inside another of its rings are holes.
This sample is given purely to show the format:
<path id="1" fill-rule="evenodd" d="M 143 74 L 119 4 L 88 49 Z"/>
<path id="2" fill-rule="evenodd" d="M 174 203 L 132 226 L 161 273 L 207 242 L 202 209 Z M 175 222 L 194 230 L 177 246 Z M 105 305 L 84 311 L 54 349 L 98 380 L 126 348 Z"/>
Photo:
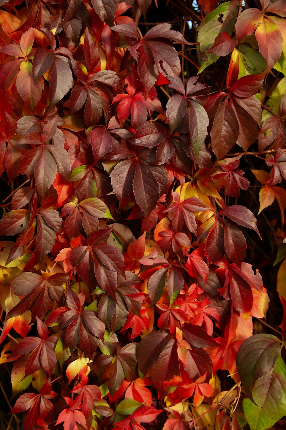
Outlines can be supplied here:
<path id="1" fill-rule="evenodd" d="M 286 415 L 286 366 L 278 357 L 273 369 L 258 378 L 253 399 L 244 399 L 243 409 L 251 430 L 266 430 Z"/>

